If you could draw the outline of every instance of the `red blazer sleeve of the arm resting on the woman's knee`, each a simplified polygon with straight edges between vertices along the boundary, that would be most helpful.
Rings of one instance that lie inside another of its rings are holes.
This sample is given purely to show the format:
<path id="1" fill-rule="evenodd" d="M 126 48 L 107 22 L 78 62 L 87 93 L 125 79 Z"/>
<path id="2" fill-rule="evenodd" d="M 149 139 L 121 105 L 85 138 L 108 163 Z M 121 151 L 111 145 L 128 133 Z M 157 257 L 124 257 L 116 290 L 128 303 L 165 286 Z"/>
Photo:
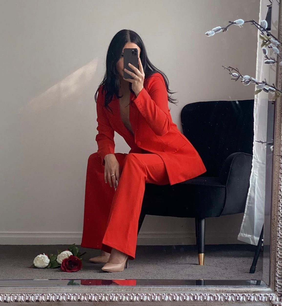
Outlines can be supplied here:
<path id="1" fill-rule="evenodd" d="M 97 130 L 98 134 L 96 135 L 96 141 L 98 144 L 98 155 L 101 158 L 102 165 L 105 164 L 104 157 L 105 155 L 112 153 L 114 154 L 115 143 L 113 140 L 114 137 L 114 129 L 112 128 L 109 119 L 105 114 L 104 106 L 104 98 L 102 95 L 102 86 L 98 90 L 98 97 L 96 103 L 97 109 Z"/>

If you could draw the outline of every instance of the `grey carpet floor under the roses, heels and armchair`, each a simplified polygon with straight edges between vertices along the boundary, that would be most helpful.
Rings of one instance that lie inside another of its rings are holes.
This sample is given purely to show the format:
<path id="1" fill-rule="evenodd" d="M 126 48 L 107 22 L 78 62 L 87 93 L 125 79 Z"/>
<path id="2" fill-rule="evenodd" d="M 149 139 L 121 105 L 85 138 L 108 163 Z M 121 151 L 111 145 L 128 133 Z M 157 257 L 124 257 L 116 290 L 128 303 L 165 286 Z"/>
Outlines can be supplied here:
<path id="1" fill-rule="evenodd" d="M 77 245 L 80 247 L 79 245 Z M 68 245 L 1 245 L 0 279 L 205 279 L 246 280 L 262 279 L 263 252 L 260 253 L 256 272 L 250 274 L 255 246 L 250 244 L 206 245 L 205 263 L 198 265 L 196 245 L 137 246 L 136 257 L 129 261 L 123 272 L 101 270 L 102 264 L 88 259 L 100 255 L 99 250 L 80 248 L 82 269 L 63 272 L 60 268 L 31 268 L 35 256 L 57 254 Z"/>

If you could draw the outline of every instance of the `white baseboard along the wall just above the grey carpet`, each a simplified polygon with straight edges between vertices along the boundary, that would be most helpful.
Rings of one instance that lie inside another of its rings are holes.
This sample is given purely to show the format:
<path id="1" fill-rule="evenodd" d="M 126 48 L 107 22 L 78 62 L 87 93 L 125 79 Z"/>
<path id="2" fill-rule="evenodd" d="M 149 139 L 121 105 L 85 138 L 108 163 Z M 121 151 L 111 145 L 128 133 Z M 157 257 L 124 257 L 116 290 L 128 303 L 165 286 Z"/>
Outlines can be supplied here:
<path id="1" fill-rule="evenodd" d="M 209 231 L 205 244 L 246 244 L 237 240 L 238 232 Z M 0 232 L 0 244 L 10 245 L 48 245 L 73 244 L 80 245 L 81 232 Z M 190 245 L 196 244 L 195 233 L 141 232 L 137 245 Z"/>

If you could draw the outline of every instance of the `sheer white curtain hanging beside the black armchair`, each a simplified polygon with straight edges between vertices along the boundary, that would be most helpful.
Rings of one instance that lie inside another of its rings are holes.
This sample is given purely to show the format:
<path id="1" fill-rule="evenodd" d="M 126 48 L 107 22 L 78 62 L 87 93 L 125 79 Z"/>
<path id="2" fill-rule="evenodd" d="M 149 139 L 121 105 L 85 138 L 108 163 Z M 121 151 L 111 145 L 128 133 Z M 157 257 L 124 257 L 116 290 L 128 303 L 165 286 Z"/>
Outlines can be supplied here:
<path id="1" fill-rule="evenodd" d="M 259 21 L 265 19 L 268 10 L 269 0 L 260 1 Z M 269 65 L 264 64 L 264 54 L 260 47 L 258 31 L 256 79 L 258 81 L 268 80 Z M 250 188 L 247 195 L 246 208 L 241 224 L 238 240 L 250 244 L 258 244 L 258 239 L 264 223 L 265 207 L 265 160 L 266 144 L 255 140 L 266 141 L 267 132 L 267 108 L 268 93 L 261 91 L 254 96 L 254 146 L 253 162 L 250 175 Z"/>

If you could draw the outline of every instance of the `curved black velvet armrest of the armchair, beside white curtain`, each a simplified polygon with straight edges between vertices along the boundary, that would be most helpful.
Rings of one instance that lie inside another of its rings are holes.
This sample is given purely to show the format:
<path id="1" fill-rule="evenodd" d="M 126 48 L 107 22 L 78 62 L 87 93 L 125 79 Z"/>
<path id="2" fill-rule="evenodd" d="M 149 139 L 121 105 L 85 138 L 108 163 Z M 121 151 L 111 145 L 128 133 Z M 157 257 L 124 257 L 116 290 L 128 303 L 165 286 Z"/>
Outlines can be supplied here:
<path id="1" fill-rule="evenodd" d="M 219 181 L 226 186 L 226 200 L 221 215 L 245 211 L 252 161 L 253 155 L 243 152 L 232 153 L 225 160 L 219 174 Z"/>

